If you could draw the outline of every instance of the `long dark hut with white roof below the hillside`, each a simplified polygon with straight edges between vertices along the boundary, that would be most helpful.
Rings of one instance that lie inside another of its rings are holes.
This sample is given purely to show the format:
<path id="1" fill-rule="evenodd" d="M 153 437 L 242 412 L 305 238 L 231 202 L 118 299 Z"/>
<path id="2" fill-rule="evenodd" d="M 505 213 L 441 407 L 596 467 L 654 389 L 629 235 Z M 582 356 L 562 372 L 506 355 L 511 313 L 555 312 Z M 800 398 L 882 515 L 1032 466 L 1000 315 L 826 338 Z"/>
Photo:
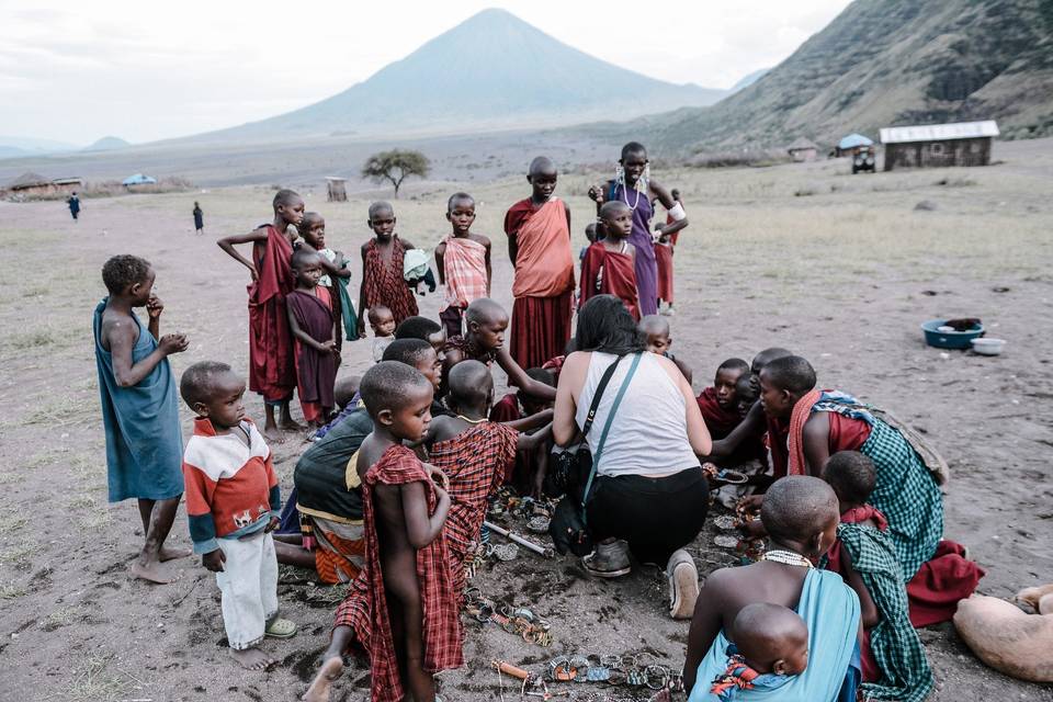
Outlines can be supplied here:
<path id="1" fill-rule="evenodd" d="M 987 166 L 990 163 L 990 140 L 996 136 L 998 125 L 994 120 L 886 127 L 881 129 L 885 170 Z"/>

